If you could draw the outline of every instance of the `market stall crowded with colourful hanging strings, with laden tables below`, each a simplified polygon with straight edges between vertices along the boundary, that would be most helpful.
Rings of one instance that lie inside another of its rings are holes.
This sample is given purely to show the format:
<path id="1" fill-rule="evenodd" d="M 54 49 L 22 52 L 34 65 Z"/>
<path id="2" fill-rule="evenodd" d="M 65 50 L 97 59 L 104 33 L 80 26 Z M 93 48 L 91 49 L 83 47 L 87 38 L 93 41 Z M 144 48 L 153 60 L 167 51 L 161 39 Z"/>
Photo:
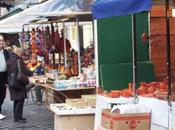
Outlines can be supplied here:
<path id="1" fill-rule="evenodd" d="M 74 30 L 72 32 L 75 40 L 79 43 L 81 39 L 79 40 L 79 35 L 76 33 L 79 32 L 78 28 L 82 24 L 79 21 L 87 21 L 87 18 L 91 18 L 89 17 L 90 13 L 74 13 L 68 16 L 57 15 L 47 17 L 46 22 L 35 18 L 32 22 L 22 26 L 23 31 L 20 39 L 21 46 L 25 49 L 23 58 L 27 66 L 33 70 L 34 66 L 31 64 L 29 57 L 37 56 L 39 62 L 37 64 L 42 65 L 45 71 L 44 75 L 40 72 L 40 74 L 35 72 L 35 76 L 31 77 L 30 81 L 36 86 L 43 88 L 46 96 L 46 107 L 55 114 L 55 130 L 58 128 L 62 129 L 61 127 L 67 128 L 66 125 L 60 126 L 59 123 L 64 124 L 70 118 L 72 120 L 69 120 L 69 122 L 72 125 L 68 127 L 92 129 L 94 127 L 95 97 L 91 96 L 87 98 L 87 101 L 81 98 L 82 95 L 96 94 L 93 42 L 90 45 L 88 44 L 86 48 L 83 48 L 84 51 L 81 52 L 81 56 L 80 48 L 70 53 L 70 47 L 67 44 L 68 40 L 71 42 L 67 37 L 67 28 L 73 26 Z M 67 23 L 71 23 L 71 25 Z M 77 26 L 74 26 L 75 24 Z M 61 33 L 64 33 L 64 37 Z M 67 105 L 65 107 L 57 106 L 57 103 L 65 102 L 69 104 L 69 107 L 66 107 Z M 61 108 L 64 112 L 60 114 L 58 110 Z M 65 111 L 66 109 L 68 110 Z M 75 109 L 76 113 L 71 111 L 72 109 Z M 85 121 L 87 124 L 74 126 L 75 121 Z"/>

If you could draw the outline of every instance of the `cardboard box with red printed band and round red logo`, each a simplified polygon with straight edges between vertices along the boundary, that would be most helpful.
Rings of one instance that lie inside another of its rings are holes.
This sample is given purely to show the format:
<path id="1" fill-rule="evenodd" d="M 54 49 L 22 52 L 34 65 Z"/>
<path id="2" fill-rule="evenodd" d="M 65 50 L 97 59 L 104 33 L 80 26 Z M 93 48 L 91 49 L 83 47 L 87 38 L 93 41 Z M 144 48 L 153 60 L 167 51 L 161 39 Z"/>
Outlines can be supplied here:
<path id="1" fill-rule="evenodd" d="M 107 130 L 150 130 L 150 113 L 119 114 L 102 111 L 101 126 Z"/>

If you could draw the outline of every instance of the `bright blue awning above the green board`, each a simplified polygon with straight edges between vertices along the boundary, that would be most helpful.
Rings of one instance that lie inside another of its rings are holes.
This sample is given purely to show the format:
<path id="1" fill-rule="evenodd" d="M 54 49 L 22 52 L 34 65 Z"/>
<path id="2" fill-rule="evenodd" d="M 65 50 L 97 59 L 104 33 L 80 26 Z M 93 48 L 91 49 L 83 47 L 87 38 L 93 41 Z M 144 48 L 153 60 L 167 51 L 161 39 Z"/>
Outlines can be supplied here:
<path id="1" fill-rule="evenodd" d="M 94 19 L 130 15 L 148 11 L 152 0 L 98 0 L 92 5 Z"/>

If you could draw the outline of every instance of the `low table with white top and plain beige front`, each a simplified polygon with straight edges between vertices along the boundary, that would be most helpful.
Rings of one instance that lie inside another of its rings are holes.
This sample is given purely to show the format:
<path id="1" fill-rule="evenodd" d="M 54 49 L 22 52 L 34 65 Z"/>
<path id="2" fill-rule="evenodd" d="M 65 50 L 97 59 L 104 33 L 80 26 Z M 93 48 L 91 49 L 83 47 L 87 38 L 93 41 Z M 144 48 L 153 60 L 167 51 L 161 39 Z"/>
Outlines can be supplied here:
<path id="1" fill-rule="evenodd" d="M 64 105 L 64 104 L 63 104 Z M 93 130 L 95 108 L 61 108 L 59 104 L 51 104 L 54 112 L 54 130 Z"/>

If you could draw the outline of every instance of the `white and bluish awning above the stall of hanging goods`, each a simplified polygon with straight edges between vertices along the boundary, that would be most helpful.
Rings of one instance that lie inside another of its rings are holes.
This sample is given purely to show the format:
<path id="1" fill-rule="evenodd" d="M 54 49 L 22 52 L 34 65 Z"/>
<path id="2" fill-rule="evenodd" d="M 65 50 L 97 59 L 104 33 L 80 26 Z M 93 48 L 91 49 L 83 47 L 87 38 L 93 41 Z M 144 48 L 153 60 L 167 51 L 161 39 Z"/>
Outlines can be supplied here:
<path id="1" fill-rule="evenodd" d="M 32 16 L 76 16 L 91 14 L 91 5 L 95 0 L 56 0 L 54 4 L 47 7 L 45 12 L 29 12 Z"/>

